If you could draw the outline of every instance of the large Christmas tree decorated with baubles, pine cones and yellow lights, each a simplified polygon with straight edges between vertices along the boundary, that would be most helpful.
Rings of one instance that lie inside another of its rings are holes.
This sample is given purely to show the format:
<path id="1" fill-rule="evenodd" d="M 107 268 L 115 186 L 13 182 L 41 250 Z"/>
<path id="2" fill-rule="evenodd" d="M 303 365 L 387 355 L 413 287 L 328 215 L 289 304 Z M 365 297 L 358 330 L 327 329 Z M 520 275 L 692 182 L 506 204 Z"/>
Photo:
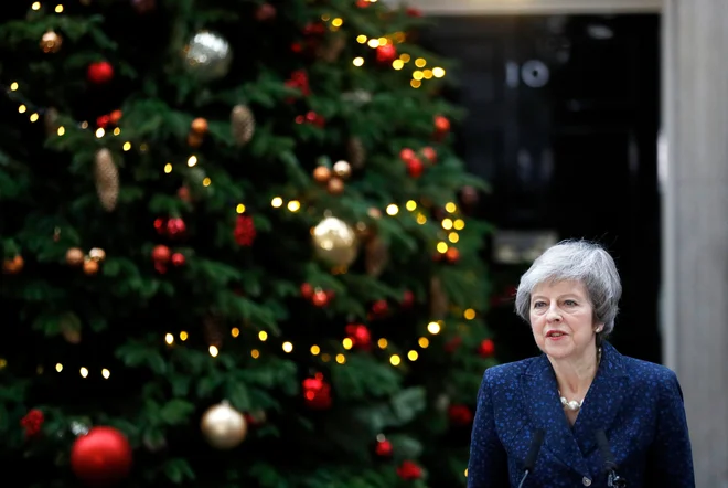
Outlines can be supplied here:
<path id="1" fill-rule="evenodd" d="M 465 485 L 494 361 L 485 187 L 426 22 L 374 0 L 3 6 L 6 478 Z"/>

